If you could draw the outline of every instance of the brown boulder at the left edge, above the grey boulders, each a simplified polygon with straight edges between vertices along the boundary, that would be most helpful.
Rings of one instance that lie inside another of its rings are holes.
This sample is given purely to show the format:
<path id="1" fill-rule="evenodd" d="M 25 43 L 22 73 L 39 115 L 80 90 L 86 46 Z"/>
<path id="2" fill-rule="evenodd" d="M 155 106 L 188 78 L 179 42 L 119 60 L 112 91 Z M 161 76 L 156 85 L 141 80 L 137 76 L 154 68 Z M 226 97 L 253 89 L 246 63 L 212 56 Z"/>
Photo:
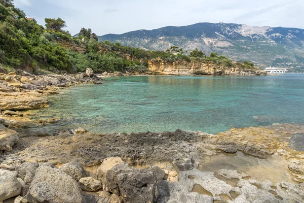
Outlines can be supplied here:
<path id="1" fill-rule="evenodd" d="M 15 130 L 0 126 L 0 153 L 12 151 L 12 146 L 18 141 L 18 133 Z"/>

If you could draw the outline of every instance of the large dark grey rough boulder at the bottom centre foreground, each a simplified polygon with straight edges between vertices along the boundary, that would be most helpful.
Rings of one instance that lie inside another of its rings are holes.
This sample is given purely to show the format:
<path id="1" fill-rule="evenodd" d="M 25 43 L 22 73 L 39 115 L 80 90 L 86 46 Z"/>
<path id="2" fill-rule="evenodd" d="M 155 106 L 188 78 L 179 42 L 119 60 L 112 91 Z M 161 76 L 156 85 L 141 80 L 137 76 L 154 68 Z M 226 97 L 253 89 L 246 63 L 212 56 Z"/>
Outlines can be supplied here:
<path id="1" fill-rule="evenodd" d="M 109 191 L 122 196 L 124 202 L 141 203 L 156 202 L 157 185 L 164 175 L 165 172 L 158 166 L 139 170 L 124 162 L 108 170 L 105 178 Z"/>

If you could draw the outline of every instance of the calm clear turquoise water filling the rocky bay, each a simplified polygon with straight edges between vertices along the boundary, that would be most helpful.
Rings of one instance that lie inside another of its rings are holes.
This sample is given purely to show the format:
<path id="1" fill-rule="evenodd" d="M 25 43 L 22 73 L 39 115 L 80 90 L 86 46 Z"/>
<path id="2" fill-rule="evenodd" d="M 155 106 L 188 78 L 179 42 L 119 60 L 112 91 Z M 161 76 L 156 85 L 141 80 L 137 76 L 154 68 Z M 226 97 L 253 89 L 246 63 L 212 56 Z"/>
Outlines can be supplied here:
<path id="1" fill-rule="evenodd" d="M 304 123 L 304 74 L 107 78 L 49 97 L 33 118 L 62 117 L 46 129 L 94 132 L 200 130 Z"/>

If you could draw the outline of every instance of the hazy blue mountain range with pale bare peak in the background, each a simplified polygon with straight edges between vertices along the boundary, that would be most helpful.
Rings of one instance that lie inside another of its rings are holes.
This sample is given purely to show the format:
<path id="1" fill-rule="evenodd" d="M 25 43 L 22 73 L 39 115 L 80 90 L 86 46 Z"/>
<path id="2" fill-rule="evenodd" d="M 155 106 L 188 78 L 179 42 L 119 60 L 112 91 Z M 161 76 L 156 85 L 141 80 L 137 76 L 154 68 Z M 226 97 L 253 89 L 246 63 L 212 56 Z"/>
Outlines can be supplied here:
<path id="1" fill-rule="evenodd" d="M 217 52 L 234 60 L 304 67 L 304 29 L 299 28 L 197 23 L 109 34 L 98 39 L 146 50 L 165 51 L 174 45 L 191 51 L 198 47 L 206 54 Z"/>

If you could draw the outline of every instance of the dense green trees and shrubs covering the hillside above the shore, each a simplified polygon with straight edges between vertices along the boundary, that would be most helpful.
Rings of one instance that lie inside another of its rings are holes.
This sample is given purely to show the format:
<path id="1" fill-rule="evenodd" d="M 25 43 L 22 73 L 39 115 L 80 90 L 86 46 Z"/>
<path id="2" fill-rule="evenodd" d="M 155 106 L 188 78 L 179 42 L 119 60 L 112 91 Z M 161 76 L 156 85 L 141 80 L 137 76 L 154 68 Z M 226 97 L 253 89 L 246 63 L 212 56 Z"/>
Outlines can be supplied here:
<path id="1" fill-rule="evenodd" d="M 73 38 L 63 30 L 65 21 L 61 18 L 45 19 L 45 27 L 27 20 L 26 15 L 13 5 L 12 0 L 0 0 L 0 67 L 46 69 L 54 72 L 81 72 L 91 67 L 95 72 L 145 72 L 148 60 L 161 58 L 165 62 L 213 61 L 218 65 L 232 66 L 232 60 L 216 53 L 206 57 L 195 49 L 186 56 L 181 48 L 173 46 L 167 52 L 146 51 L 122 46 L 119 42 L 99 42 L 90 29 L 81 28 L 78 37 Z M 85 45 L 88 51 L 80 54 L 60 46 L 60 41 Z M 253 66 L 244 63 L 244 66 Z"/>

